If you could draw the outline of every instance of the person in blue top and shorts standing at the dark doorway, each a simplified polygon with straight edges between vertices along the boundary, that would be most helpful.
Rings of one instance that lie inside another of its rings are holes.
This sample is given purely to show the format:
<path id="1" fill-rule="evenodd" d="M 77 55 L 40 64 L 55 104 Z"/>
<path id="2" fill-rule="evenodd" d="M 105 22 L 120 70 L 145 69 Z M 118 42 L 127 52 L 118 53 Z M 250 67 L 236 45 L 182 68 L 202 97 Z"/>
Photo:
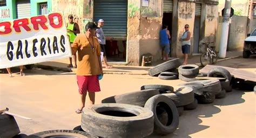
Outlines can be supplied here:
<path id="1" fill-rule="evenodd" d="M 161 60 L 168 60 L 170 54 L 170 43 L 169 39 L 171 39 L 170 31 L 167 29 L 167 25 L 163 25 L 162 30 L 160 31 L 160 46 L 162 49 L 162 57 Z"/>

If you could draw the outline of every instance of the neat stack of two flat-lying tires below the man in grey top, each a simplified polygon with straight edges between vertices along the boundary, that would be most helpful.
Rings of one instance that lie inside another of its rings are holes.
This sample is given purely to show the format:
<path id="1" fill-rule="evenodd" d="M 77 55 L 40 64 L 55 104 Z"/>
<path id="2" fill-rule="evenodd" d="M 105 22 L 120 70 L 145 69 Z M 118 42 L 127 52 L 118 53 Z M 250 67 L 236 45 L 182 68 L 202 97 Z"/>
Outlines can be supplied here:
<path id="1" fill-rule="evenodd" d="M 183 81 L 195 81 L 199 74 L 199 66 L 197 65 L 181 65 L 178 68 L 179 79 Z"/>

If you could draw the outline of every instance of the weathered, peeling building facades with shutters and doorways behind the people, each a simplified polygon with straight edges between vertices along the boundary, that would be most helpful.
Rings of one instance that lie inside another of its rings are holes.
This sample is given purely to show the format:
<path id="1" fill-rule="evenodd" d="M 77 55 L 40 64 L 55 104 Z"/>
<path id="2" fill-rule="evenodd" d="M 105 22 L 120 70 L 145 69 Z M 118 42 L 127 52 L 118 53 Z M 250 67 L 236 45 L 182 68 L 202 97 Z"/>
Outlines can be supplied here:
<path id="1" fill-rule="evenodd" d="M 154 61 L 161 58 L 162 24 L 171 33 L 171 57 L 182 56 L 179 39 L 185 24 L 192 33 L 191 54 L 204 52 L 201 43 L 215 42 L 218 25 L 218 0 L 0 0 L 0 12 L 0 21 L 49 12 L 62 12 L 68 19 L 72 14 L 81 31 L 87 22 L 104 19 L 108 60 L 129 65 L 140 65 L 146 53 Z"/>

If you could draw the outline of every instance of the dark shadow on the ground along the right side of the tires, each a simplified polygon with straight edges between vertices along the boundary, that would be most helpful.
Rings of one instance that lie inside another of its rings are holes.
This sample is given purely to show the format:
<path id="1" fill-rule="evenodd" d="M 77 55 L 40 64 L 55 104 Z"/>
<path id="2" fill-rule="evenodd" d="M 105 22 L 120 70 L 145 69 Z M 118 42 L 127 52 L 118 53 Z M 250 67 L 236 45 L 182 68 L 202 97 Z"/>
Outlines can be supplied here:
<path id="1" fill-rule="evenodd" d="M 221 109 L 216 106 L 229 106 L 245 102 L 242 99 L 244 92 L 233 89 L 232 92 L 227 93 L 224 99 L 216 99 L 210 104 L 199 104 L 198 107 L 192 111 L 184 111 L 179 119 L 179 128 L 173 133 L 165 136 L 152 134 L 150 138 L 163 137 L 163 138 L 187 138 L 194 133 L 201 132 L 210 126 L 201 125 L 203 122 L 200 118 L 211 118 L 214 114 L 221 112 Z"/>

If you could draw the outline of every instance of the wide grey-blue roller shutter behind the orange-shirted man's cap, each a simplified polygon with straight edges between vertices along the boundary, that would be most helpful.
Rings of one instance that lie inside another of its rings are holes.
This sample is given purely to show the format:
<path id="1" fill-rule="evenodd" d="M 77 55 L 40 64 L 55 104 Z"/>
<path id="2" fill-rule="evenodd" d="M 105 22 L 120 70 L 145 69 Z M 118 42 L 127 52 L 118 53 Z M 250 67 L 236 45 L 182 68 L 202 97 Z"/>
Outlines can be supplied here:
<path id="1" fill-rule="evenodd" d="M 104 20 L 102 27 L 106 37 L 126 40 L 127 36 L 127 0 L 93 1 L 93 20 Z"/>

